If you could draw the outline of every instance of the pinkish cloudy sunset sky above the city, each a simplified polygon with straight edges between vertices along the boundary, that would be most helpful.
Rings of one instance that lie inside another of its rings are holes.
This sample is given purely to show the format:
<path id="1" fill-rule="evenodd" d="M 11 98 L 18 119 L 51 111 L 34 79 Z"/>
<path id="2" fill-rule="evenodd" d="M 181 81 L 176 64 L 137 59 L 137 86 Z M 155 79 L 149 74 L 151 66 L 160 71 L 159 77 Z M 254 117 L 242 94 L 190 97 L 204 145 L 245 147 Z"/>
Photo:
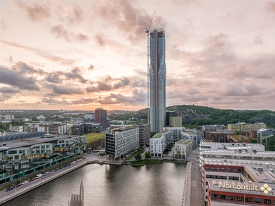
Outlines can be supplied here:
<path id="1" fill-rule="evenodd" d="M 156 11 L 166 106 L 275 111 L 275 1 L 0 3 L 0 109 L 146 108 Z"/>

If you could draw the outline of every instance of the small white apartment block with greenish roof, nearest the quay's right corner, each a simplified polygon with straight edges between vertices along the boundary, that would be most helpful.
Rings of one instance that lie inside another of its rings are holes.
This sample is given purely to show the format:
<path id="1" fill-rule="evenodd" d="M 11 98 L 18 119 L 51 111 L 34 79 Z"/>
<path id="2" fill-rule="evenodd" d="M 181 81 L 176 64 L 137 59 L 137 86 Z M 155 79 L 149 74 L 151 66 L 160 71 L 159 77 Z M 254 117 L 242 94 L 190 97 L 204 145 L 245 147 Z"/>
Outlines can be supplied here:
<path id="1" fill-rule="evenodd" d="M 186 159 L 192 153 L 192 140 L 181 139 L 175 142 L 174 157 Z"/>

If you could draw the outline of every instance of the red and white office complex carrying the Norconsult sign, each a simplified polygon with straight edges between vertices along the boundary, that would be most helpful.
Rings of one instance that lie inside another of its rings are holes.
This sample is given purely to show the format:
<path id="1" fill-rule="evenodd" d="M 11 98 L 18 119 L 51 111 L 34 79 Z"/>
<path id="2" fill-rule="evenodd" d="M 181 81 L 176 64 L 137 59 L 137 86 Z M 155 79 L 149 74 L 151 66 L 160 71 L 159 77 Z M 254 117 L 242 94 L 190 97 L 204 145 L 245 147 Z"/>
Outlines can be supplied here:
<path id="1" fill-rule="evenodd" d="M 265 151 L 261 144 L 201 142 L 204 201 L 212 206 L 272 205 L 274 160 L 275 152 Z"/>

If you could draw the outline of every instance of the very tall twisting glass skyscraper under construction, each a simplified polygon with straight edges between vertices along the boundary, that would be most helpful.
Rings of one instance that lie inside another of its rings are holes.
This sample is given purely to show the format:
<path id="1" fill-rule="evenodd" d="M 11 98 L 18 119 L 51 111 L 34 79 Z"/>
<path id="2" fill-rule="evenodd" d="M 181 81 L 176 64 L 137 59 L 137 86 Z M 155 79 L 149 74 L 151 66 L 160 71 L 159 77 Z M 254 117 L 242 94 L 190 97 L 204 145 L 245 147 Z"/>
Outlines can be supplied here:
<path id="1" fill-rule="evenodd" d="M 152 132 L 162 132 L 166 111 L 165 32 L 150 30 L 150 124 Z"/>

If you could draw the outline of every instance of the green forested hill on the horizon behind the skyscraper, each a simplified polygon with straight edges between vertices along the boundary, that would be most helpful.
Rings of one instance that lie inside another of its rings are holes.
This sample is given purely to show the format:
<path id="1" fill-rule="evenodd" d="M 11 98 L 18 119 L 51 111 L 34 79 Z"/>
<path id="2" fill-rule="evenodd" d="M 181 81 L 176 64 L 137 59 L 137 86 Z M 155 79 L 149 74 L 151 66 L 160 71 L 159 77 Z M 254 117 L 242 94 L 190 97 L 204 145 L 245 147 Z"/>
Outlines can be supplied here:
<path id="1" fill-rule="evenodd" d="M 237 122 L 256 123 L 263 122 L 269 128 L 275 128 L 275 112 L 269 110 L 243 110 L 219 109 L 208 106 L 176 105 L 168 106 L 166 111 L 173 111 L 182 117 L 184 126 L 201 126 L 206 124 L 234 124 Z M 112 113 L 110 119 L 129 120 L 147 119 L 147 109 L 132 113 Z"/>

